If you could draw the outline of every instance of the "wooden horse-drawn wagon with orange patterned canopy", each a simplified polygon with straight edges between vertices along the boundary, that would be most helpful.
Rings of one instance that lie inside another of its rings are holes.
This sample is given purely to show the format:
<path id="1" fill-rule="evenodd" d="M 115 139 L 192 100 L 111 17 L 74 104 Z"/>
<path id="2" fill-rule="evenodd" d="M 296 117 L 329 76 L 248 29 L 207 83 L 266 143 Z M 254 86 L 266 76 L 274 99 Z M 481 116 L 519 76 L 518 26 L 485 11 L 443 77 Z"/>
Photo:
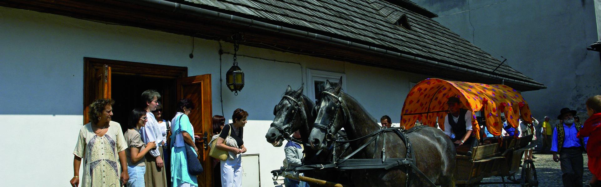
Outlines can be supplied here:
<path id="1" fill-rule="evenodd" d="M 415 121 L 428 126 L 439 126 L 444 130 L 445 101 L 458 96 L 462 108 L 472 111 L 472 127 L 480 140 L 475 147 L 458 147 L 456 156 L 455 180 L 458 185 L 505 183 L 522 186 L 537 186 L 538 180 L 534 163 L 525 160 L 523 152 L 533 147 L 529 145 L 532 135 L 524 137 L 504 137 L 501 134 L 503 124 L 501 113 L 507 116 L 507 125 L 519 128 L 519 120 L 532 123 L 528 103 L 516 90 L 505 85 L 485 85 L 481 83 L 453 82 L 441 79 L 427 79 L 416 84 L 405 99 L 401 113 L 401 125 L 411 128 Z M 477 117 L 480 116 L 480 117 Z M 480 120 L 478 124 L 477 119 Z M 480 126 L 486 126 L 490 134 L 496 137 L 483 141 Z M 467 152 L 471 152 L 471 155 Z M 522 167 L 520 179 L 515 174 Z M 485 177 L 499 176 L 502 182 L 480 182 Z"/>

